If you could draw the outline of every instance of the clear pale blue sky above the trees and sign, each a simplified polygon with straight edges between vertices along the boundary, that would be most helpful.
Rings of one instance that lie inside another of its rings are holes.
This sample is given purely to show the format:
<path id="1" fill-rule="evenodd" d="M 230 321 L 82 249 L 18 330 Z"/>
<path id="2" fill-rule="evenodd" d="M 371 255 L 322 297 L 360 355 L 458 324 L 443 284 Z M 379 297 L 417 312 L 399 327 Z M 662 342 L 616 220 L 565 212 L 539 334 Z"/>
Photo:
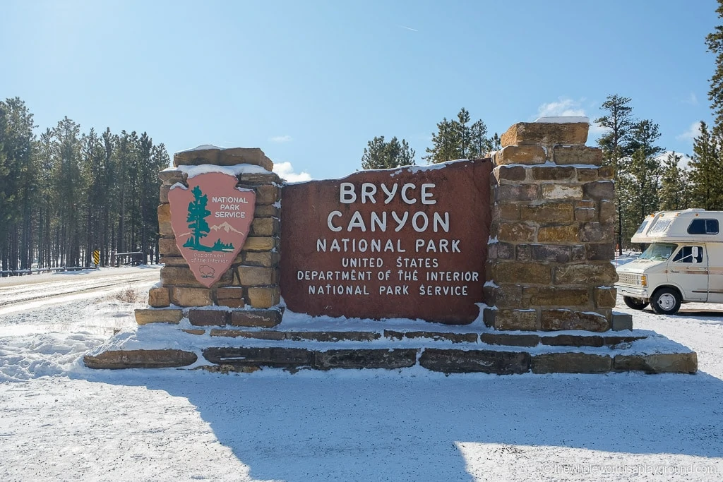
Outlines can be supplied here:
<path id="1" fill-rule="evenodd" d="M 146 131 L 172 154 L 261 147 L 313 178 L 361 167 L 367 141 L 416 162 L 443 117 L 490 132 L 601 115 L 609 94 L 692 152 L 709 121 L 714 0 L 27 1 L 0 4 L 0 98 L 38 130 Z M 588 144 L 599 137 L 591 129 Z"/>

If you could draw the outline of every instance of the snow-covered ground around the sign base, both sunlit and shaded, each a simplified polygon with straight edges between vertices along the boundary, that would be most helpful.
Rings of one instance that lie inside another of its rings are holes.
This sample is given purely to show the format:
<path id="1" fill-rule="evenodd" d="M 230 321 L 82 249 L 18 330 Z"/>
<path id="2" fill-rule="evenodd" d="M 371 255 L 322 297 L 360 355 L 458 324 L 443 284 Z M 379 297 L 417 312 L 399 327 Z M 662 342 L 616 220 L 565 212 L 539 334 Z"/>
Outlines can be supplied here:
<path id="1" fill-rule="evenodd" d="M 45 286 L 54 303 L 0 313 L 2 481 L 723 478 L 723 306 L 659 317 L 618 304 L 696 350 L 692 376 L 222 375 L 85 369 L 85 350 L 132 329 L 145 303 Z"/>

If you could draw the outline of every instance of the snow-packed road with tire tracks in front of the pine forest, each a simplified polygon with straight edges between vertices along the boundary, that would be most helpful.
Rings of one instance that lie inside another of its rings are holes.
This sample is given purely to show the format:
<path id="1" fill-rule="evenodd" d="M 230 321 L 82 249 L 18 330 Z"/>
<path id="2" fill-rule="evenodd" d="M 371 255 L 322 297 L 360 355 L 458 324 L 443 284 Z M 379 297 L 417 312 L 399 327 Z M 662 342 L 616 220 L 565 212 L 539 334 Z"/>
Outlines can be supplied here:
<path id="1" fill-rule="evenodd" d="M 0 315 L 97 298 L 128 286 L 147 290 L 157 282 L 157 267 L 145 266 L 4 277 L 0 278 Z"/>

